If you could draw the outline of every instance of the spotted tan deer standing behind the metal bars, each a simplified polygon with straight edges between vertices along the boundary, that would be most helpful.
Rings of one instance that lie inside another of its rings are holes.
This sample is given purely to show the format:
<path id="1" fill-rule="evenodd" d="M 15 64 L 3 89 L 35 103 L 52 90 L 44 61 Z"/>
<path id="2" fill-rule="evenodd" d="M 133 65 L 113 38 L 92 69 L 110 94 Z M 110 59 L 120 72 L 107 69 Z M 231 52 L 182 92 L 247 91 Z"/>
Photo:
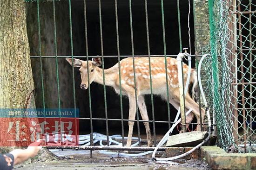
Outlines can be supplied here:
<path id="1" fill-rule="evenodd" d="M 167 86 L 166 86 L 166 73 L 165 73 L 165 59 L 164 57 L 151 57 L 151 77 L 153 94 L 160 95 L 162 99 L 167 101 Z M 66 58 L 67 62 L 72 65 L 72 59 Z M 87 63 L 88 62 L 88 63 Z M 87 65 L 89 68 L 87 69 Z M 103 84 L 103 74 L 101 66 L 101 58 L 94 57 L 92 61 L 82 61 L 74 59 L 74 67 L 79 67 L 81 73 L 81 89 L 88 88 L 88 70 L 89 70 L 89 84 L 97 82 Z M 183 64 L 184 82 L 187 80 L 188 65 Z M 135 101 L 135 87 L 137 88 L 138 107 L 143 120 L 148 120 L 147 107 L 144 101 L 144 95 L 150 94 L 150 76 L 149 76 L 149 62 L 148 57 L 135 57 L 135 80 L 134 84 L 134 70 L 133 70 L 133 58 L 128 57 L 120 61 L 121 70 L 121 89 L 122 95 L 128 96 L 129 99 L 129 120 L 135 120 L 136 113 L 136 101 Z M 115 89 L 117 94 L 120 94 L 120 81 L 119 81 L 119 68 L 118 63 L 109 69 L 105 69 L 105 84 Z M 167 75 L 168 75 L 168 92 L 169 102 L 178 110 L 180 106 L 180 94 L 178 88 L 178 74 L 177 74 L 177 61 L 175 58 L 167 57 Z M 195 69 L 191 69 L 191 76 L 189 80 L 192 85 L 192 93 L 197 86 L 197 76 Z M 185 97 L 185 109 L 193 109 L 193 113 L 190 113 L 186 117 L 186 122 L 191 122 L 196 116 L 197 123 L 200 123 L 199 106 L 189 96 Z M 202 109 L 202 120 L 204 118 L 205 111 Z M 151 146 L 151 133 L 148 122 L 143 122 L 146 128 L 148 146 Z M 133 134 L 134 121 L 129 121 L 129 132 L 127 146 L 131 146 L 131 139 Z M 197 126 L 197 130 L 200 130 L 200 126 Z"/>

